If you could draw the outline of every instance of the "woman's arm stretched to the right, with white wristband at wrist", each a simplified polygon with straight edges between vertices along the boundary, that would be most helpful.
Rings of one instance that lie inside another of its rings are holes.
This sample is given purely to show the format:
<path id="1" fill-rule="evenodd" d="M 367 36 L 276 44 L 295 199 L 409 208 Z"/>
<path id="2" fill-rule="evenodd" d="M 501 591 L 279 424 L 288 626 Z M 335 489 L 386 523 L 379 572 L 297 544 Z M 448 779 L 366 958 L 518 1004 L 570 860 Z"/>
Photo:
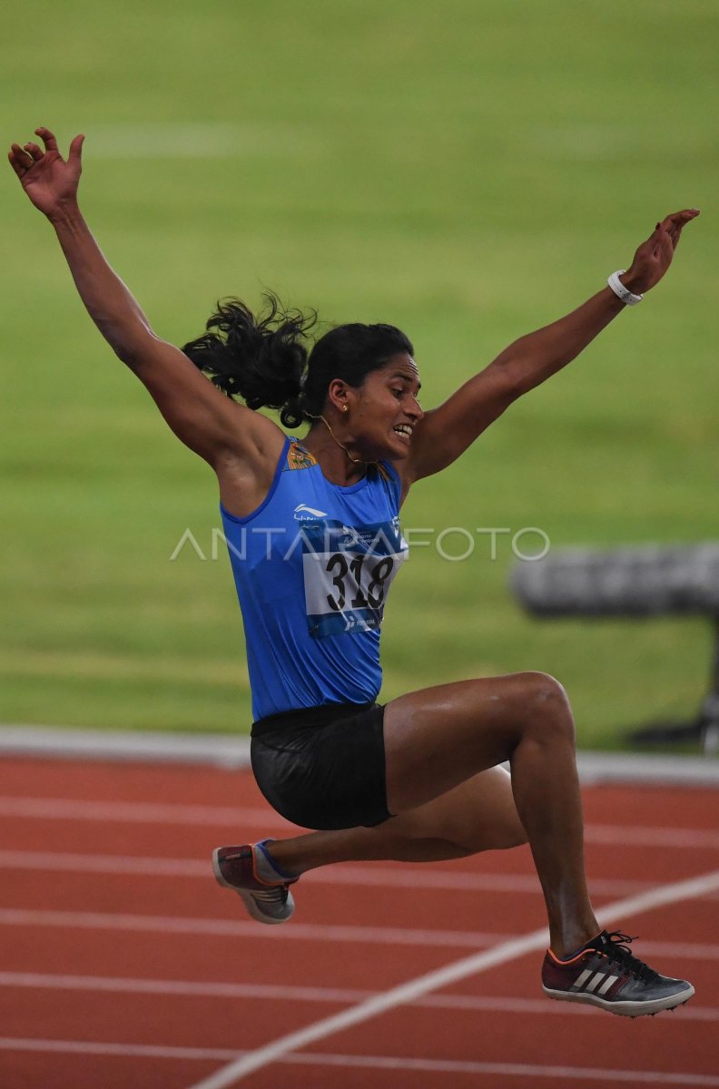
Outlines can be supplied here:
<path id="1" fill-rule="evenodd" d="M 629 291 L 641 295 L 661 280 L 682 229 L 698 215 L 695 208 L 685 209 L 657 223 L 629 271 L 620 277 Z M 448 401 L 425 413 L 405 463 L 410 482 L 455 461 L 513 401 L 571 363 L 623 309 L 624 303 L 611 287 L 605 287 L 566 317 L 514 341 Z"/>

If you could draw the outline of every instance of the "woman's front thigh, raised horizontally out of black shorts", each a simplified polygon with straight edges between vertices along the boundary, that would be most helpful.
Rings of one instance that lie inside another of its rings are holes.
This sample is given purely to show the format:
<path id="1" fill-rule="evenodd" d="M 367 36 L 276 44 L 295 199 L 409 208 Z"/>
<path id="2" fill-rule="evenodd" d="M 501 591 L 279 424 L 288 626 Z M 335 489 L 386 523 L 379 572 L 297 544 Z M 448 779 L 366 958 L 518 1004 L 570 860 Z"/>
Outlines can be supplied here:
<path id="1" fill-rule="evenodd" d="M 425 688 L 385 708 L 387 803 L 414 809 L 507 760 L 528 721 L 569 709 L 544 673 L 511 673 Z"/>

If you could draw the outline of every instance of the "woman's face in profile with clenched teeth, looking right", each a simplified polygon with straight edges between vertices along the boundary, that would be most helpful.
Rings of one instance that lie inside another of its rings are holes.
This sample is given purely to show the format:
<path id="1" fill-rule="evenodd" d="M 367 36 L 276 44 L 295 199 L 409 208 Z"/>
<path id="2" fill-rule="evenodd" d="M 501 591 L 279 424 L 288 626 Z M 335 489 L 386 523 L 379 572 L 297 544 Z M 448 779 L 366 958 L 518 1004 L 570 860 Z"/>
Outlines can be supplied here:
<path id="1" fill-rule="evenodd" d="M 393 355 L 380 370 L 370 371 L 356 391 L 349 428 L 368 457 L 406 457 L 412 432 L 424 413 L 417 394 L 419 372 L 412 356 Z"/>

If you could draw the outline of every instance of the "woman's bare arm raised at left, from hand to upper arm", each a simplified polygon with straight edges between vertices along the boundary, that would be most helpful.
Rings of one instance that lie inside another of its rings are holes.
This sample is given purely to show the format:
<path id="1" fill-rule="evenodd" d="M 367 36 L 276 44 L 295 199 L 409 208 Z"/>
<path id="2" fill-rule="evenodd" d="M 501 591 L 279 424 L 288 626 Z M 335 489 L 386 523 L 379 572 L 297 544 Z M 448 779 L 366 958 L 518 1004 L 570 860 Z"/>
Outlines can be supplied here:
<path id="1" fill-rule="evenodd" d="M 224 396 L 179 348 L 160 340 L 102 256 L 77 205 L 84 136 L 75 136 L 65 161 L 49 129 L 36 133 L 45 150 L 32 142 L 13 144 L 10 164 L 52 223 L 80 296 L 114 353 L 147 387 L 175 435 L 216 468 L 228 456 L 273 464 L 280 429 Z"/>

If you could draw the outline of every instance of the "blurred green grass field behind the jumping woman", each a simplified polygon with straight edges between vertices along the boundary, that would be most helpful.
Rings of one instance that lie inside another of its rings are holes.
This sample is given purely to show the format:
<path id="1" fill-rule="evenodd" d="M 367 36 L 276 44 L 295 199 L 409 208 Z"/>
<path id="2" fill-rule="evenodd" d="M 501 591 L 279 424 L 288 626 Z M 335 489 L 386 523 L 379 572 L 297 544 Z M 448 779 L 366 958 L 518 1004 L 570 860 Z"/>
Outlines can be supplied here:
<path id="1" fill-rule="evenodd" d="M 271 286 L 406 329 L 425 406 L 598 290 L 660 216 L 702 208 L 656 292 L 417 486 L 404 523 L 719 537 L 716 4 L 29 0 L 3 30 L 5 144 L 87 134 L 83 208 L 161 335 Z M 244 731 L 211 474 L 84 315 L 9 168 L 0 186 L 0 720 Z M 206 560 L 170 561 L 185 528 Z M 547 670 L 585 747 L 694 710 L 708 624 L 532 621 L 511 560 L 486 538 L 461 563 L 415 550 L 386 698 Z"/>

